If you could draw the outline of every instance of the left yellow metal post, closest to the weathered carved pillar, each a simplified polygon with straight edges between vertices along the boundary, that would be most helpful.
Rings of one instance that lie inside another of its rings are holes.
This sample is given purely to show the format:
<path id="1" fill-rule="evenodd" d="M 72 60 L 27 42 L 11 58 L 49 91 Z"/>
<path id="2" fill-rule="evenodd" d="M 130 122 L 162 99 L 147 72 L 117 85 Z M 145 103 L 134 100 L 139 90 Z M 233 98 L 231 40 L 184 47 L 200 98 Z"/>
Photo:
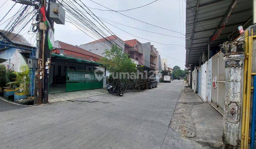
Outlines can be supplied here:
<path id="1" fill-rule="evenodd" d="M 247 81 L 247 66 L 248 66 L 248 31 L 245 31 L 245 61 L 244 61 L 244 89 L 243 89 L 243 100 L 242 100 L 242 128 L 241 128 L 241 149 L 244 148 L 244 135 L 245 135 L 245 109 L 246 109 L 246 81 Z"/>

